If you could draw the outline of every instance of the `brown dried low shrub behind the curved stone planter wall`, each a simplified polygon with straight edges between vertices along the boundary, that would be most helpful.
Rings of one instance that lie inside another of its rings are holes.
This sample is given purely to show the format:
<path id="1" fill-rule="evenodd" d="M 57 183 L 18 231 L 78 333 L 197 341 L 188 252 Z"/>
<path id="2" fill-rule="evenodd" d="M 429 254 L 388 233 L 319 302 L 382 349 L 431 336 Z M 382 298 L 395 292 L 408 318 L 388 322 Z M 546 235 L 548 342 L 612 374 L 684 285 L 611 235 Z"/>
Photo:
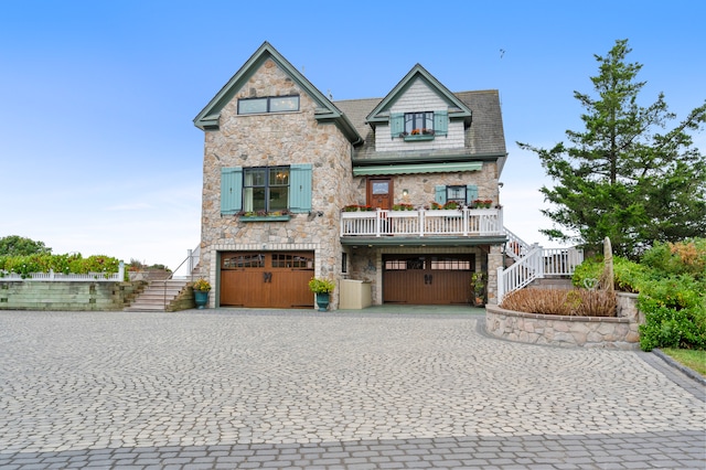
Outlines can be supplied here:
<path id="1" fill-rule="evenodd" d="M 616 295 L 586 289 L 520 289 L 507 295 L 501 308 L 527 313 L 616 317 Z"/>

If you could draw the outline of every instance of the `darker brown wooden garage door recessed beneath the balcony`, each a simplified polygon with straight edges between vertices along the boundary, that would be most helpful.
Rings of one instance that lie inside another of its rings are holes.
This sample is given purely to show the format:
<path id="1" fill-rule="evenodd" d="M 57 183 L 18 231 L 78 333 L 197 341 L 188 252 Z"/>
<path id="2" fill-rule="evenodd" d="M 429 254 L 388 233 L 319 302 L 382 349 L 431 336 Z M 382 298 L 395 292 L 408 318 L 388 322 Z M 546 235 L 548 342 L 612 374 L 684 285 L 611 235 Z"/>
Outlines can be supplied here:
<path id="1" fill-rule="evenodd" d="M 410 305 L 472 302 L 474 255 L 386 255 L 383 301 Z"/>

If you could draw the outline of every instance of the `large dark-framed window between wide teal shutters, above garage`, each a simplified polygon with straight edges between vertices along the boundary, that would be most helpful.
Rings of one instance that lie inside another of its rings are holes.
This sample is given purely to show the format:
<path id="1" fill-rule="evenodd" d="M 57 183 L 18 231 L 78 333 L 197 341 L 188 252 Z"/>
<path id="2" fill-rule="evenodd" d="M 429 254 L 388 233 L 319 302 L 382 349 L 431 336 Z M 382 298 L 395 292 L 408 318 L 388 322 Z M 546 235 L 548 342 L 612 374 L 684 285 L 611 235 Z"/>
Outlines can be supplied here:
<path id="1" fill-rule="evenodd" d="M 289 167 L 245 168 L 243 210 L 276 212 L 289 205 Z"/>

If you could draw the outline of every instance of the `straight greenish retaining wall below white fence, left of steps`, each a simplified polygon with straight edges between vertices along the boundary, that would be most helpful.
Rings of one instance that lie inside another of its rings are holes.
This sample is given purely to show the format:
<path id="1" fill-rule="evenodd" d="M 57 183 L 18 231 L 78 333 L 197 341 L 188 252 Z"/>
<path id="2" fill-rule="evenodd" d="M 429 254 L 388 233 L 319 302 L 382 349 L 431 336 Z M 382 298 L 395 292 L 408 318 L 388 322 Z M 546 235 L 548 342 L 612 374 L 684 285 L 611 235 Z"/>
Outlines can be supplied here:
<path id="1" fill-rule="evenodd" d="M 122 310 L 147 282 L 0 281 L 0 310 Z"/>

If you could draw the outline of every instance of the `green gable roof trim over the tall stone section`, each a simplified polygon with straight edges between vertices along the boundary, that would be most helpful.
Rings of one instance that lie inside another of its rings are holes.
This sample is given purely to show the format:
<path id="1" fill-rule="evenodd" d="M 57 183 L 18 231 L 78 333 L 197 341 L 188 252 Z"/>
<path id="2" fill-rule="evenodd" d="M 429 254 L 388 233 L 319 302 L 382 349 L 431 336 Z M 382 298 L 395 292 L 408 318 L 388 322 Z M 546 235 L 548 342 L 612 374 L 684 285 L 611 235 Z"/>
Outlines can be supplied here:
<path id="1" fill-rule="evenodd" d="M 233 99 L 235 94 L 268 60 L 275 62 L 278 67 L 289 75 L 289 77 L 314 100 L 318 106 L 314 113 L 317 120 L 336 125 L 353 145 L 362 142 L 363 139 L 349 118 L 267 41 L 255 51 L 250 58 L 231 77 L 228 83 L 208 102 L 206 107 L 196 115 L 194 126 L 202 130 L 218 129 L 218 119 L 223 107 Z"/>

